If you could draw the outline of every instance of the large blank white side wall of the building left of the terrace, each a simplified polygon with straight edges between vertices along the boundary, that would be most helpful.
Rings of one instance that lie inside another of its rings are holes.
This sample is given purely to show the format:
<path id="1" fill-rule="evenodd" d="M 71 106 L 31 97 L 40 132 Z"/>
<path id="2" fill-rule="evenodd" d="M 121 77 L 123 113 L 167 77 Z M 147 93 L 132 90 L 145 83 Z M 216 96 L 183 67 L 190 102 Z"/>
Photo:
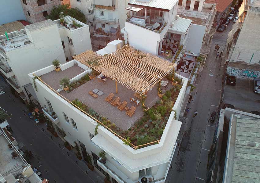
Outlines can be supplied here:
<path id="1" fill-rule="evenodd" d="M 52 65 L 54 59 L 66 62 L 57 25 L 27 33 L 33 43 L 6 52 L 20 87 L 30 83 L 27 74 Z"/>

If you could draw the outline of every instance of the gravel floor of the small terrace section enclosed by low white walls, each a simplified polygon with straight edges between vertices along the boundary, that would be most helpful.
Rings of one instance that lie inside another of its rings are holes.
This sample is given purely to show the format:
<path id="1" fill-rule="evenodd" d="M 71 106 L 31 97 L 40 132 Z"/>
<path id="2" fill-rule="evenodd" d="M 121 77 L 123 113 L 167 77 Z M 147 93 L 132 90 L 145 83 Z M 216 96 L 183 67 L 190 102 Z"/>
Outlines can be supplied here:
<path id="1" fill-rule="evenodd" d="M 46 82 L 51 88 L 58 90 L 60 88 L 60 84 L 59 81 L 64 78 L 64 77 L 68 77 L 69 79 L 72 79 L 73 77 L 75 77 L 76 75 L 84 72 L 85 70 L 82 69 L 79 66 L 72 66 L 69 67 L 66 70 L 60 70 L 59 72 L 56 72 L 55 70 L 47 73 L 47 74 L 43 74 L 40 77 L 42 78 L 42 80 L 44 82 Z"/>

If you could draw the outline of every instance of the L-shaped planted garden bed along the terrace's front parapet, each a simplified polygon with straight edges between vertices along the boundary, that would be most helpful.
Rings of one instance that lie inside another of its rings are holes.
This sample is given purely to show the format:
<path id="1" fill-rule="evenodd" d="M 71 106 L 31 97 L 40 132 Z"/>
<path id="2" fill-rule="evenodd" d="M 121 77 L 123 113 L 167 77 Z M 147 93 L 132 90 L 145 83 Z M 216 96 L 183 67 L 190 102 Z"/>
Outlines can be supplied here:
<path id="1" fill-rule="evenodd" d="M 168 77 L 169 77 L 168 80 L 171 81 L 172 76 L 167 75 L 167 78 Z M 175 78 L 175 81 L 181 83 L 181 79 L 179 78 Z M 157 144 L 161 139 L 165 125 L 169 119 L 170 113 L 172 112 L 173 105 L 176 102 L 181 87 L 182 87 L 181 84 L 177 84 L 170 90 L 165 91 L 165 94 L 163 95 L 162 99 L 158 100 L 156 104 L 150 109 L 148 109 L 147 111 L 144 110 L 143 117 L 137 120 L 135 124 L 133 124 L 132 127 L 130 127 L 126 131 L 117 127 L 116 124 L 113 123 L 113 121 L 110 121 L 106 117 L 95 112 L 93 109 L 86 106 L 80 100 L 75 99 L 72 101 L 72 103 L 78 106 L 86 113 L 90 114 L 92 117 L 100 121 L 102 124 L 104 124 L 105 128 L 106 127 L 110 128 L 110 130 L 112 130 L 114 133 L 126 139 L 123 140 L 124 144 L 126 145 L 131 146 L 131 144 L 133 144 L 135 146 L 138 146 L 138 145 L 154 142 L 139 147 L 142 148 L 149 145 Z M 145 103 L 145 99 L 143 99 L 141 102 Z M 102 124 L 98 123 L 98 125 L 102 125 Z M 97 135 L 98 133 L 97 131 L 98 125 L 95 130 L 95 135 Z"/>

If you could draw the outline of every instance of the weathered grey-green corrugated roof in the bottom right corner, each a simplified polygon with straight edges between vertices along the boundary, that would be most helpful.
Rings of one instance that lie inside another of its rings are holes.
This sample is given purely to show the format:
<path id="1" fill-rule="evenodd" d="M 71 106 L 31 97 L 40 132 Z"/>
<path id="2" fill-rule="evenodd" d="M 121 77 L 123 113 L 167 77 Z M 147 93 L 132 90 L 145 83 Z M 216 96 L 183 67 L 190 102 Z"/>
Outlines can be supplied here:
<path id="1" fill-rule="evenodd" d="M 228 163 L 232 169 L 227 167 L 232 172 L 226 182 L 260 182 L 260 120 L 237 117 L 232 135 L 235 139 L 231 140 L 230 146 L 235 147 L 230 147 L 233 157 L 229 155 Z"/>

